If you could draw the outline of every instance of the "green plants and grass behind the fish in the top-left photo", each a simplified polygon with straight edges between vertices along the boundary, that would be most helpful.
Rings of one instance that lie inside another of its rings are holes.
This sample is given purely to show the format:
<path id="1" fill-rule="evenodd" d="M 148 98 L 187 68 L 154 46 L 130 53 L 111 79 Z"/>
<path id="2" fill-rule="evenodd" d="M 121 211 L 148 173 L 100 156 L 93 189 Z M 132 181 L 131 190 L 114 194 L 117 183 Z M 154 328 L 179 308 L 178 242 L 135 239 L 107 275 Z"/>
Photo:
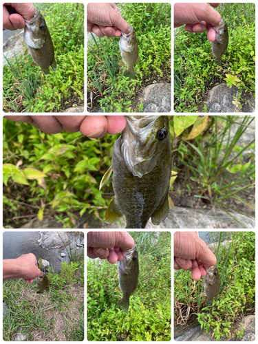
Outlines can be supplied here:
<path id="1" fill-rule="evenodd" d="M 45 75 L 31 56 L 3 66 L 3 111 L 60 112 L 84 103 L 84 4 L 34 3 L 50 31 L 57 69 Z M 67 15 L 69 14 L 69 15 Z M 24 42 L 24 51 L 27 45 Z M 8 54 L 4 54 L 8 58 Z"/>

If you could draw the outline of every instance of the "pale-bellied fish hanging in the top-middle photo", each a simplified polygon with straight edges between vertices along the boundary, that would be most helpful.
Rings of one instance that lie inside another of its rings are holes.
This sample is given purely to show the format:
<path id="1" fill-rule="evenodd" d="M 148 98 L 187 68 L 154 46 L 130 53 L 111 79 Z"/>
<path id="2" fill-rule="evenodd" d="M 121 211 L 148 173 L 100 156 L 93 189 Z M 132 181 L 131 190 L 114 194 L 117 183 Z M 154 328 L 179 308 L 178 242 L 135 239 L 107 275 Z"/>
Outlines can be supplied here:
<path id="1" fill-rule="evenodd" d="M 119 47 L 122 56 L 122 60 L 118 62 L 118 65 L 127 65 L 127 70 L 124 76 L 129 76 L 131 79 L 136 78 L 136 73 L 134 72 L 134 65 L 140 61 L 138 43 L 136 39 L 136 32 L 133 26 L 129 25 L 129 33 L 125 34 L 121 32 Z"/>

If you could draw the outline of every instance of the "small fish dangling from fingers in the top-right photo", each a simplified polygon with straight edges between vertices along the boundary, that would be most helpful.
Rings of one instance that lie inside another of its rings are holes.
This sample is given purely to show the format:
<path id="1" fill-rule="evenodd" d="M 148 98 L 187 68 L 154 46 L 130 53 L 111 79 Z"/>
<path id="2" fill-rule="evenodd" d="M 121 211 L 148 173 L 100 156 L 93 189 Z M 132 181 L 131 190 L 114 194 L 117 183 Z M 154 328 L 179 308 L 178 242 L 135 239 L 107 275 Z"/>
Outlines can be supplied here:
<path id="1" fill-rule="evenodd" d="M 226 53 L 228 48 L 228 25 L 224 18 L 220 19 L 219 25 L 213 26 L 216 31 L 215 41 L 211 44 L 213 55 L 216 56 L 213 63 L 222 65 L 222 55 Z"/>

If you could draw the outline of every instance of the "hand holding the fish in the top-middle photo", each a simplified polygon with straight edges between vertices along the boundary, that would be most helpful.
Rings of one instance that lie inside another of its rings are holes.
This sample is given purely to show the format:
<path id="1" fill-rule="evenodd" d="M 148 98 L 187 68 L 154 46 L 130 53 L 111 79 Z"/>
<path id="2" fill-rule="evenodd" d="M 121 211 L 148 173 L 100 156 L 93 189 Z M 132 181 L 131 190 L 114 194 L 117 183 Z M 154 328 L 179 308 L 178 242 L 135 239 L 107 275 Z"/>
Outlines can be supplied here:
<path id="1" fill-rule="evenodd" d="M 120 30 L 127 34 L 128 27 L 115 3 L 88 3 L 87 31 L 98 37 L 111 37 L 120 36 Z"/>

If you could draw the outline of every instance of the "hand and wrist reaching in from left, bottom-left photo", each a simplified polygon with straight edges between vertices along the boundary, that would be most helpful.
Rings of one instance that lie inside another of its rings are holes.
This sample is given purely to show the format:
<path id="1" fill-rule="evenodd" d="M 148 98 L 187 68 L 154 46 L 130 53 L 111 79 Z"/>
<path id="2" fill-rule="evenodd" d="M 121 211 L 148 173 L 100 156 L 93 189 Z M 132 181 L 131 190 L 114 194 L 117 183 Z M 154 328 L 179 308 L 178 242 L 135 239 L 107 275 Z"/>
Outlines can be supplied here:
<path id="1" fill-rule="evenodd" d="M 3 281 L 22 278 L 25 283 L 32 283 L 39 275 L 41 270 L 33 253 L 21 255 L 16 259 L 3 259 Z"/>

